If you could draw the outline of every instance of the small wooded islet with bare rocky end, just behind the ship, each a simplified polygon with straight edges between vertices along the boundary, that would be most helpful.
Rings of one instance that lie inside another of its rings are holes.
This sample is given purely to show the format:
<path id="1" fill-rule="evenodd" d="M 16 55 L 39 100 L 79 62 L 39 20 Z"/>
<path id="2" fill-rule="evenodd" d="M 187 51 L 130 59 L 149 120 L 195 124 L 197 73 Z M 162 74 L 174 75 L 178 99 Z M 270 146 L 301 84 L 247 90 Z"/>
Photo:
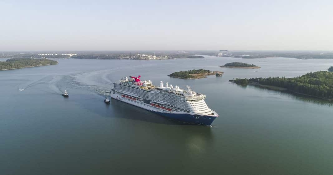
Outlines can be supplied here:
<path id="1" fill-rule="evenodd" d="M 187 71 L 173 72 L 168 76 L 174 78 L 183 78 L 183 79 L 200 79 L 200 78 L 206 78 L 207 75 L 222 76 L 223 73 L 224 72 L 210 71 L 206 69 L 193 69 Z"/>

